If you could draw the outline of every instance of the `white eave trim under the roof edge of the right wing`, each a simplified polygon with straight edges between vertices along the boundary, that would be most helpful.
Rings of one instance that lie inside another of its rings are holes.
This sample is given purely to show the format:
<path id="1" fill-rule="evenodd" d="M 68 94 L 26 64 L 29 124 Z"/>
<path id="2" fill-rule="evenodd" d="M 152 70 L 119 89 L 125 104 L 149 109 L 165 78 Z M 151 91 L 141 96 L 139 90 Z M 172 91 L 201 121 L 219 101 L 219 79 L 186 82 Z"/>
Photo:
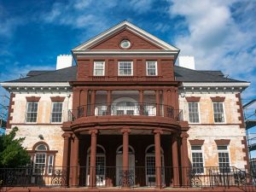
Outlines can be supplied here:
<path id="1" fill-rule="evenodd" d="M 248 82 L 220 82 L 220 83 L 206 83 L 206 82 L 193 82 L 193 83 L 183 83 L 183 87 L 247 87 L 251 83 Z"/>

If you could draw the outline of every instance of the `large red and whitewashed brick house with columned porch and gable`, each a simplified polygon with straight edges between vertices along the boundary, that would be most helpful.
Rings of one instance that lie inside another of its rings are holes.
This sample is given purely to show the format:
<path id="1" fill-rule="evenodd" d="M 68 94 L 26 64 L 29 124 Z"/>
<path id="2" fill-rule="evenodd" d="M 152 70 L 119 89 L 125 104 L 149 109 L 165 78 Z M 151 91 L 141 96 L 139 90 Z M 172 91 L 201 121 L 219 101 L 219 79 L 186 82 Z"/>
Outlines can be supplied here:
<path id="1" fill-rule="evenodd" d="M 26 137 L 33 172 L 65 170 L 70 186 L 161 188 L 191 185 L 188 172 L 209 166 L 247 168 L 248 82 L 175 65 L 179 49 L 127 21 L 72 53 L 72 67 L 2 83 L 8 130 Z"/>

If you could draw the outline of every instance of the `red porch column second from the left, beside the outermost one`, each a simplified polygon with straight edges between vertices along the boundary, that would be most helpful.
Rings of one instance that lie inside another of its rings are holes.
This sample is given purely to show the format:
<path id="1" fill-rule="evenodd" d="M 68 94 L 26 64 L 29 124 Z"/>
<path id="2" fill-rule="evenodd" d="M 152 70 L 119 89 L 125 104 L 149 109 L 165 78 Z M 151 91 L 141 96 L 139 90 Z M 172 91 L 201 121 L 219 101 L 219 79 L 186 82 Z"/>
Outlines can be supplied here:
<path id="1" fill-rule="evenodd" d="M 78 178 L 79 178 L 79 137 L 75 134 L 73 134 L 73 156 L 72 156 L 72 165 L 71 170 L 72 172 L 72 185 L 77 186 L 78 185 Z"/>

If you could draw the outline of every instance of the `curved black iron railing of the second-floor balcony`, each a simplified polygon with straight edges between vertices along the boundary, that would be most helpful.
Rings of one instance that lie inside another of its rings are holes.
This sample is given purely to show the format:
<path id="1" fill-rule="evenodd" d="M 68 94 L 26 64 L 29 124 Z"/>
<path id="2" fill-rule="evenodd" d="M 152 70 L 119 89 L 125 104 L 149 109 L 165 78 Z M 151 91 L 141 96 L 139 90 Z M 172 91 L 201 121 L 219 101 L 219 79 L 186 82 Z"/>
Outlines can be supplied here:
<path id="1" fill-rule="evenodd" d="M 123 102 L 120 103 L 96 103 L 79 106 L 78 109 L 69 110 L 68 119 L 73 121 L 81 117 L 105 116 L 105 115 L 144 115 L 160 116 L 183 120 L 182 110 L 174 109 L 172 106 L 156 103 Z"/>

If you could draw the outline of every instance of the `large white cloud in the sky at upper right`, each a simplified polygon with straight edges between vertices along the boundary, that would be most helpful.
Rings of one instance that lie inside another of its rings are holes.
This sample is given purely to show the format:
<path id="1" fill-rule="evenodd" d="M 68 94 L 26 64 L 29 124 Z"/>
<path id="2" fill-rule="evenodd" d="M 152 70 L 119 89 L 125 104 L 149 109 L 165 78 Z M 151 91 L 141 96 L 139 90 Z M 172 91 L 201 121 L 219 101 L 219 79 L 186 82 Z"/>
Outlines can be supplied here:
<path id="1" fill-rule="evenodd" d="M 189 29 L 189 34 L 176 38 L 181 55 L 195 55 L 197 69 L 222 70 L 232 78 L 255 82 L 256 2 L 171 2 L 169 14 L 172 18 L 182 16 Z M 246 96 L 253 96 L 254 83 L 248 90 Z"/>

